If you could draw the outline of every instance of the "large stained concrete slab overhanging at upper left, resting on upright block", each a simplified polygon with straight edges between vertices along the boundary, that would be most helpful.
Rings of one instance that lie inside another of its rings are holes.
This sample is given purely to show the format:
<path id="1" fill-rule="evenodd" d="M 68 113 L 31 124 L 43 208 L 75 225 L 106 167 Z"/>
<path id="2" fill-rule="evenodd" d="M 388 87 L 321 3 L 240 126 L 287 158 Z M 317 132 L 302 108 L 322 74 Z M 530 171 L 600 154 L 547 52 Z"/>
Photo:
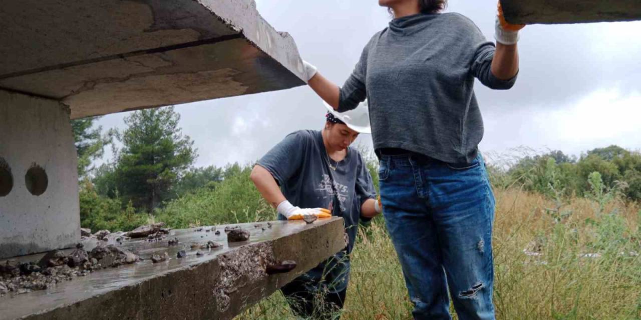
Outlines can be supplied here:
<path id="1" fill-rule="evenodd" d="M 303 66 L 253 0 L 0 4 L 0 88 L 71 118 L 292 88 Z"/>

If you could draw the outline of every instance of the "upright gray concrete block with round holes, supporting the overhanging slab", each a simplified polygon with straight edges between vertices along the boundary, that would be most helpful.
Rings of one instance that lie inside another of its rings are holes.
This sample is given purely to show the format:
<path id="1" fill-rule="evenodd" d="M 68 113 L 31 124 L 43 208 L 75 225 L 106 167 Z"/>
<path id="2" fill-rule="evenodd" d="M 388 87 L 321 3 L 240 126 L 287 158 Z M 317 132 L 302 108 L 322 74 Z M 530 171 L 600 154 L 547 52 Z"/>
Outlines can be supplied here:
<path id="1" fill-rule="evenodd" d="M 0 90 L 0 258 L 78 242 L 76 159 L 69 109 Z"/>

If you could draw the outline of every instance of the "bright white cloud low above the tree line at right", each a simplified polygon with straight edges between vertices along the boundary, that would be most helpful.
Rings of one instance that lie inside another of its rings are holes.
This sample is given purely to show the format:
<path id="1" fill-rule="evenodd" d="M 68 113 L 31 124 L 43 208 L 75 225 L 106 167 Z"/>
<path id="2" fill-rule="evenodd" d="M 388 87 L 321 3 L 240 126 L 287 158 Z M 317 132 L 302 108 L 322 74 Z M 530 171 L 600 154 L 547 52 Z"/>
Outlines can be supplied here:
<path id="1" fill-rule="evenodd" d="M 520 145 L 579 156 L 592 148 L 641 149 L 641 92 L 601 89 L 556 108 L 530 108 L 485 116 L 481 150 L 512 153 Z"/>

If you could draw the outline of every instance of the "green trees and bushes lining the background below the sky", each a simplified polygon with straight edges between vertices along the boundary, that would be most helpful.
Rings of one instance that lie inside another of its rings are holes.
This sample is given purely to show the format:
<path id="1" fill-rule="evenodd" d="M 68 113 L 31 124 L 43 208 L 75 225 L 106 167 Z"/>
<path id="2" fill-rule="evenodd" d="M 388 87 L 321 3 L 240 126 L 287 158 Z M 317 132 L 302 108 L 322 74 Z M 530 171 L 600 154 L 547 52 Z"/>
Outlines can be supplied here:
<path id="1" fill-rule="evenodd" d="M 179 119 L 173 107 L 139 110 L 125 118 L 124 130 L 104 135 L 95 125 L 97 118 L 72 121 L 83 227 L 113 231 L 149 220 L 188 227 L 276 217 L 249 179 L 251 165 L 193 166 L 197 150 L 182 134 Z M 94 167 L 107 145 L 114 150 L 112 161 Z M 378 188 L 376 157 L 363 156 Z M 488 170 L 495 188 L 523 188 L 560 204 L 573 196 L 590 196 L 590 175 L 595 172 L 604 192 L 641 200 L 641 154 L 615 145 L 578 158 L 554 150 L 521 157 L 508 168 L 489 165 Z"/>

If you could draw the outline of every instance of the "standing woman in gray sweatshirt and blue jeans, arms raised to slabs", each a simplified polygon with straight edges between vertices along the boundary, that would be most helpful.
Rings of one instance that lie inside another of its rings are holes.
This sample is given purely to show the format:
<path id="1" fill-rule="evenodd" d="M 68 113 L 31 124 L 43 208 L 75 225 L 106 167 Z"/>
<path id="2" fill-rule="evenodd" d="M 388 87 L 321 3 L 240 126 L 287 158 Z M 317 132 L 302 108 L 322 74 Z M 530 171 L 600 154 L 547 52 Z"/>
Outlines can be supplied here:
<path id="1" fill-rule="evenodd" d="M 306 80 L 339 112 L 367 98 L 385 221 L 415 319 L 494 319 L 494 195 L 478 152 L 474 78 L 509 89 L 518 31 L 499 5 L 495 39 L 447 0 L 379 0 L 394 15 L 339 88 L 304 62 Z"/>

